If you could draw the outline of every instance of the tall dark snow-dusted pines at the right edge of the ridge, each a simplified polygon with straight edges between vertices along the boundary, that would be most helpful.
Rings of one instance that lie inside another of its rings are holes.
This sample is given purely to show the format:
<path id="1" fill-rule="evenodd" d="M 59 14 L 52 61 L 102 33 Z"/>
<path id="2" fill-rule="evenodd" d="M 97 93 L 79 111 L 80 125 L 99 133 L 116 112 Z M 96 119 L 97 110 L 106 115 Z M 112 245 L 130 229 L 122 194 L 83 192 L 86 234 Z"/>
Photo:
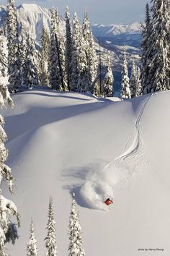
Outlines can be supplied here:
<path id="1" fill-rule="evenodd" d="M 143 94 L 170 89 L 170 1 L 146 5 L 141 50 Z"/>

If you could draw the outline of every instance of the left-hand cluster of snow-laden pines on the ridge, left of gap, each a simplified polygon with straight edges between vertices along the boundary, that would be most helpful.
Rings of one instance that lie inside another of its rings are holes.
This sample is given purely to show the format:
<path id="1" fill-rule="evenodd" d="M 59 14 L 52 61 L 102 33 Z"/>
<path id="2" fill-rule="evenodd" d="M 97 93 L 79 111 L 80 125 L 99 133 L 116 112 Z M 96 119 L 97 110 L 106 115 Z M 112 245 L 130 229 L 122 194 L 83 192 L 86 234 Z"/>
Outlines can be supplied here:
<path id="1" fill-rule="evenodd" d="M 17 93 L 22 86 L 46 85 L 53 90 L 107 95 L 111 68 L 107 68 L 107 82 L 101 85 L 99 60 L 87 12 L 82 26 L 76 13 L 71 24 L 66 7 L 66 33 L 61 33 L 60 22 L 58 9 L 52 9 L 50 36 L 42 27 L 40 51 L 37 51 L 32 35 L 19 27 L 14 0 L 8 1 L 7 66 L 12 93 Z"/>

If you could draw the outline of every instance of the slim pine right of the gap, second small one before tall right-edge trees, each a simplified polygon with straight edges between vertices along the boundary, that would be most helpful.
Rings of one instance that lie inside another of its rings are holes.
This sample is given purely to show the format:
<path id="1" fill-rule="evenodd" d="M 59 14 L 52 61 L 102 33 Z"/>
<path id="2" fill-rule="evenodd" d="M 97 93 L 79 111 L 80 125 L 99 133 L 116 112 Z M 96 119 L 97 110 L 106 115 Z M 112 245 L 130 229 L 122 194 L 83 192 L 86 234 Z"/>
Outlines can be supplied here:
<path id="1" fill-rule="evenodd" d="M 135 98 L 137 82 L 138 82 L 137 67 L 136 67 L 136 64 L 135 64 L 135 59 L 133 57 L 132 70 L 131 70 L 131 75 L 130 75 L 130 95 L 131 95 L 131 98 Z"/>

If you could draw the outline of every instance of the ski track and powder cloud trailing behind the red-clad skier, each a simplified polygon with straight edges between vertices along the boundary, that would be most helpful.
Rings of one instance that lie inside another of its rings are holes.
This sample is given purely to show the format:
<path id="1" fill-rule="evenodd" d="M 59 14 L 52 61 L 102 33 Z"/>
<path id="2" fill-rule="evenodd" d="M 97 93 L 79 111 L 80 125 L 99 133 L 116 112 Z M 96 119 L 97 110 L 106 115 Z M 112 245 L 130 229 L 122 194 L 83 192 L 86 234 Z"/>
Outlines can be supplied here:
<path id="1" fill-rule="evenodd" d="M 153 94 L 146 98 L 140 109 L 138 118 L 135 121 L 134 139 L 128 150 L 115 158 L 114 161 L 107 163 L 104 168 L 95 171 L 94 174 L 91 174 L 91 171 L 87 174 L 86 182 L 84 182 L 79 191 L 87 207 L 97 210 L 109 210 L 110 208 L 104 204 L 104 200 L 107 197 L 115 197 L 114 187 L 117 184 L 128 182 L 134 174 L 138 174 L 139 171 L 143 171 L 148 167 L 149 158 L 143 148 L 139 125 L 143 112 L 152 96 Z M 123 150 L 127 148 L 132 135 L 133 133 L 130 134 Z"/>

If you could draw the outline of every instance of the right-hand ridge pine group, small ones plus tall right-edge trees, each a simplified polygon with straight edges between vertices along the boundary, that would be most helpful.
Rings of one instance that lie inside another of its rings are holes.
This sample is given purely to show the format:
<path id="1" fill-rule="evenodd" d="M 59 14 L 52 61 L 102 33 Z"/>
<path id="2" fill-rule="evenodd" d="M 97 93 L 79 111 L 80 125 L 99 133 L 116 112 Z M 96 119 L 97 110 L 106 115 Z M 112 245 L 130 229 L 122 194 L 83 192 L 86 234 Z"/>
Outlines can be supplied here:
<path id="1" fill-rule="evenodd" d="M 152 0 L 146 4 L 146 20 L 142 25 L 142 43 L 139 67 L 133 59 L 131 77 L 128 77 L 126 54 L 122 65 L 120 97 L 170 90 L 170 1 Z"/>

